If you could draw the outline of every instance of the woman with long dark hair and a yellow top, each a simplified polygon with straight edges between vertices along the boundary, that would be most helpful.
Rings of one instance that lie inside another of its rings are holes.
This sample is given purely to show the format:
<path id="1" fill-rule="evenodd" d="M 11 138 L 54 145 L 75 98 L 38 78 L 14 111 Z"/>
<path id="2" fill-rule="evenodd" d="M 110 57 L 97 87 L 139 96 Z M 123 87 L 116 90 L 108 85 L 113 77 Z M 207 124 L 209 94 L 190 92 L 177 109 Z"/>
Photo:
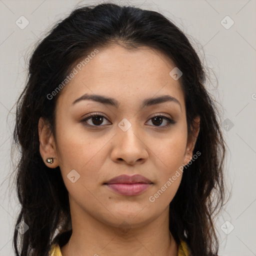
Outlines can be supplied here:
<path id="1" fill-rule="evenodd" d="M 103 3 L 58 22 L 17 102 L 16 255 L 216 255 L 225 142 L 204 83 L 158 12 Z"/>

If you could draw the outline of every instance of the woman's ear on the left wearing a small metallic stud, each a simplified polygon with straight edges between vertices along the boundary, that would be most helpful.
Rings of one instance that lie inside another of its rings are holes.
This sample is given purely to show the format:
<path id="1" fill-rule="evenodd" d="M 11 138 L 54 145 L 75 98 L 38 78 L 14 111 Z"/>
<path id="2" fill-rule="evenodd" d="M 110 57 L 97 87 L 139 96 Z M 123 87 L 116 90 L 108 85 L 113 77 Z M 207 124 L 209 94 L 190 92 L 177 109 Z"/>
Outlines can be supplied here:
<path id="1" fill-rule="evenodd" d="M 43 159 L 43 162 L 47 167 L 55 168 L 58 166 L 57 160 L 57 152 L 55 147 L 55 142 L 53 138 L 53 134 L 50 130 L 50 126 L 47 121 L 45 121 L 42 117 L 39 118 L 38 121 L 38 135 L 39 135 L 39 151 L 40 155 Z M 52 157 L 53 162 L 46 162 L 46 158 Z"/>

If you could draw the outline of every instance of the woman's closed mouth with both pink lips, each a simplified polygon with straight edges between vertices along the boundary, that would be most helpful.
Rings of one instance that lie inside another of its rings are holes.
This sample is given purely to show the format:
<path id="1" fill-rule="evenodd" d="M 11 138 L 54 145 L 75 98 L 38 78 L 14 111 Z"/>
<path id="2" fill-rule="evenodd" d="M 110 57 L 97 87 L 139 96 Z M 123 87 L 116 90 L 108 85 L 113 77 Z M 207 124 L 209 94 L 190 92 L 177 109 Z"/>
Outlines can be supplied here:
<path id="1" fill-rule="evenodd" d="M 134 174 L 120 175 L 103 183 L 112 191 L 121 195 L 137 195 L 147 190 L 153 183 L 146 177 Z"/>

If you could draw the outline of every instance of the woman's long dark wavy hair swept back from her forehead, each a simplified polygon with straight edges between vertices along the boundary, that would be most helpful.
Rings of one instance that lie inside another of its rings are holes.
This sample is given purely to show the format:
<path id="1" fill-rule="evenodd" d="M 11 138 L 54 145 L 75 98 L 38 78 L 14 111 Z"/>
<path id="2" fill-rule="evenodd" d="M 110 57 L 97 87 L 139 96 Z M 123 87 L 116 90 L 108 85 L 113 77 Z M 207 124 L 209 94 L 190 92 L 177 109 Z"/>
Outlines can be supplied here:
<path id="1" fill-rule="evenodd" d="M 218 252 L 214 216 L 224 204 L 225 142 L 219 110 L 205 88 L 206 72 L 184 33 L 156 11 L 113 3 L 82 6 L 59 21 L 38 42 L 29 60 L 28 79 L 16 102 L 13 143 L 20 148 L 15 185 L 21 204 L 13 245 L 18 256 L 47 255 L 56 232 L 70 229 L 68 192 L 59 167 L 48 168 L 39 153 L 38 120 L 45 118 L 55 134 L 55 105 L 49 99 L 79 59 L 110 43 L 136 48 L 146 45 L 163 52 L 182 71 L 188 132 L 200 117 L 194 152 L 201 155 L 184 168 L 180 186 L 170 202 L 169 230 L 176 242 L 184 240 L 193 256 Z M 67 85 L 68 86 L 68 85 Z M 19 237 L 19 238 L 18 238 Z"/>

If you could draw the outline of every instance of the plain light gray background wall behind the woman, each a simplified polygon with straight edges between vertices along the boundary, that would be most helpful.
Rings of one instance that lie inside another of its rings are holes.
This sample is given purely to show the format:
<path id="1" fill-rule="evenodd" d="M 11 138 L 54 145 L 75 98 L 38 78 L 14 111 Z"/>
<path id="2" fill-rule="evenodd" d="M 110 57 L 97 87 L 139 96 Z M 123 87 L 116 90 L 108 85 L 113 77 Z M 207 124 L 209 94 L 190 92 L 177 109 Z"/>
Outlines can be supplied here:
<path id="1" fill-rule="evenodd" d="M 78 4 L 94 2 L 0 0 L 0 256 L 14 254 L 12 235 L 19 205 L 15 189 L 8 181 L 13 170 L 10 145 L 15 108 L 11 107 L 25 84 L 29 54 L 36 40 L 56 20 L 68 15 Z M 211 79 L 207 87 L 220 103 L 220 121 L 229 148 L 225 176 L 231 197 L 216 219 L 221 241 L 219 255 L 256 255 L 256 1 L 115 2 L 165 14 L 186 33 L 207 65 Z M 16 20 L 21 23 L 22 15 L 29 22 L 23 29 L 15 23 Z M 231 27 L 227 15 L 234 21 Z"/>

